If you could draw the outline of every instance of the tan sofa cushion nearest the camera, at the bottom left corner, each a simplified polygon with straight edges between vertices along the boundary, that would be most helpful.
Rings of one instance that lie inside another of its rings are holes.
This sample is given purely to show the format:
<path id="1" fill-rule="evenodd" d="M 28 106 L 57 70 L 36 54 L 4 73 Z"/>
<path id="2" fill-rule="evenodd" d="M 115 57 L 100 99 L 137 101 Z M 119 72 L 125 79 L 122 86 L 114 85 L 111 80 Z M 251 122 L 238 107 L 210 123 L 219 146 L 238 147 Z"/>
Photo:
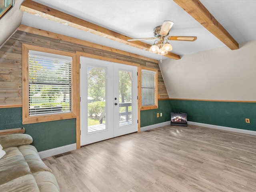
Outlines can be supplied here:
<path id="1" fill-rule="evenodd" d="M 59 192 L 58 183 L 50 172 L 28 174 L 0 185 L 3 192 Z"/>

